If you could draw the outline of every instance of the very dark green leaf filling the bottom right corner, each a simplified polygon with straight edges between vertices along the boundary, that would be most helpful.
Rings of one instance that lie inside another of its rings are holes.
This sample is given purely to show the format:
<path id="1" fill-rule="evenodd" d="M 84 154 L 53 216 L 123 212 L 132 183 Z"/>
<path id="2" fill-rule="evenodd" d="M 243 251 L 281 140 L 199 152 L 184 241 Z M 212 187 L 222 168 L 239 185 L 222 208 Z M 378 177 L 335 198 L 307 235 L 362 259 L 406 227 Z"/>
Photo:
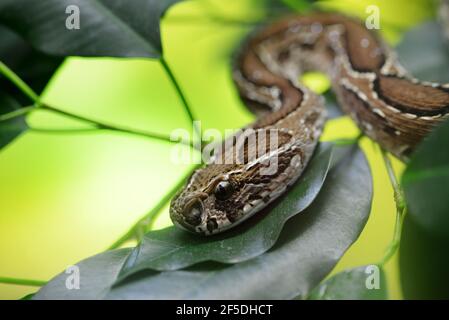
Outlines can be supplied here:
<path id="1" fill-rule="evenodd" d="M 449 299 L 448 248 L 449 235 L 423 228 L 412 215 L 405 217 L 399 251 L 405 299 Z"/>

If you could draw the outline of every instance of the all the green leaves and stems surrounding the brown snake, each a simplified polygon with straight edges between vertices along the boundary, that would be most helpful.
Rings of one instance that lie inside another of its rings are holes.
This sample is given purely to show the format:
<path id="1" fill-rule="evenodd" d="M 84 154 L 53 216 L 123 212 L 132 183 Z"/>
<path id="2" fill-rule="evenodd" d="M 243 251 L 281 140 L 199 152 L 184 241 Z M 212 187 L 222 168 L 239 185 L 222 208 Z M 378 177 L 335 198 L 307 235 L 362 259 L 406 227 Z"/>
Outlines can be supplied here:
<path id="1" fill-rule="evenodd" d="M 251 5 L 264 7 L 265 11 L 273 13 L 278 13 L 278 10 L 284 12 L 286 8 L 305 12 L 313 8 L 335 10 L 345 1 L 340 1 L 340 4 L 338 1 L 318 1 L 312 5 L 299 0 L 266 0 L 262 5 L 261 2 Z M 0 149 L 30 128 L 27 115 L 38 109 L 84 122 L 93 130 L 110 130 L 170 142 L 167 136 L 155 132 L 111 125 L 62 111 L 43 103 L 39 94 L 63 59 L 69 56 L 156 59 L 182 101 L 189 120 L 193 121 L 191 105 L 165 59 L 160 33 L 160 18 L 178 2 L 180 0 L 134 0 L 132 3 L 105 0 L 2 1 Z M 83 12 L 83 32 L 60 27 L 65 24 L 66 15 L 58 13 L 65 12 L 69 5 L 76 5 Z M 415 6 L 426 7 L 421 2 Z M 361 16 L 360 8 L 354 6 L 351 12 Z M 430 17 L 431 11 L 429 8 L 421 10 L 417 20 Z M 47 14 L 35 15 L 35 12 Z M 232 18 L 217 21 L 237 25 L 260 22 Z M 388 15 L 385 22 L 387 30 L 389 25 L 391 30 L 404 29 L 409 27 L 410 19 L 404 15 L 394 20 Z M 442 81 L 445 74 L 437 71 L 443 70 L 448 60 L 441 54 L 443 49 L 439 45 L 437 30 L 434 24 L 427 24 L 408 33 L 398 52 L 416 75 Z M 397 38 L 397 30 L 391 34 L 394 34 L 392 38 Z M 423 53 L 414 50 L 418 40 L 425 42 L 418 46 L 420 50 L 426 48 L 432 53 L 427 55 L 431 58 L 425 62 L 419 59 Z M 329 92 L 326 97 L 330 97 Z M 327 100 L 328 105 L 334 108 L 332 98 Z M 338 111 L 332 114 L 340 116 Z M 449 231 L 446 214 L 449 195 L 445 188 L 449 184 L 447 137 L 449 125 L 445 123 L 421 145 L 402 177 L 409 214 L 401 238 L 401 277 L 405 296 L 410 298 L 448 297 L 447 289 L 438 286 L 441 279 L 447 277 L 444 273 L 447 269 L 444 250 Z M 367 289 L 366 267 L 346 270 L 322 281 L 356 241 L 371 209 L 371 173 L 355 142 L 340 141 L 339 145 L 349 146 L 337 146 L 333 151 L 331 145 L 321 144 L 306 172 L 282 199 L 229 233 L 198 238 L 174 227 L 150 231 L 133 249 L 110 250 L 78 263 L 85 284 L 82 290 L 66 290 L 67 275 L 62 273 L 37 294 L 24 299 L 386 299 L 384 260 L 378 265 L 381 272 L 379 290 Z M 400 186 L 393 185 L 400 194 Z M 154 212 L 138 225 L 157 214 L 171 194 L 168 193 L 155 206 Z M 401 205 L 398 203 L 398 208 Z M 398 222 L 399 232 L 395 236 L 400 234 L 401 222 Z M 139 231 L 137 226 L 120 239 L 117 246 L 129 240 L 136 231 Z M 396 250 L 399 243 L 396 240 L 392 242 L 394 246 L 387 252 L 387 258 Z"/>

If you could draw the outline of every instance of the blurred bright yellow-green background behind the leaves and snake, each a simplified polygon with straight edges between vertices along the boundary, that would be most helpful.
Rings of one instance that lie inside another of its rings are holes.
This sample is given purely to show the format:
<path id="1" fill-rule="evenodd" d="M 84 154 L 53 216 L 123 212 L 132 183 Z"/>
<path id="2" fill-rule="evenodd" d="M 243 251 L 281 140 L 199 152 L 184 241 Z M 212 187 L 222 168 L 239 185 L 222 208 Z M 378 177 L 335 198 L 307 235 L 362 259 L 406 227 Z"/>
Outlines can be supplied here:
<path id="1" fill-rule="evenodd" d="M 245 22 L 266 14 L 264 1 L 205 2 L 187 1 L 169 10 L 162 22 L 164 55 L 204 129 L 238 128 L 254 117 L 238 97 L 230 58 L 251 30 Z M 361 18 L 366 18 L 365 8 L 371 4 L 379 6 L 380 31 L 392 45 L 404 31 L 435 14 L 432 0 L 316 2 L 324 10 Z M 308 77 L 307 83 L 317 91 L 328 86 L 320 77 Z M 43 96 L 61 109 L 110 123 L 165 134 L 176 128 L 192 129 L 157 61 L 70 58 Z M 81 127 L 42 111 L 28 121 L 39 128 Z M 343 117 L 327 123 L 323 140 L 357 133 L 354 124 Z M 332 274 L 378 262 L 393 235 L 393 191 L 381 154 L 367 139 L 362 146 L 374 177 L 372 213 L 362 235 Z M 0 277 L 48 280 L 105 250 L 190 170 L 187 165 L 170 163 L 171 152 L 168 143 L 109 132 L 28 132 L 4 148 L 0 152 Z M 394 166 L 398 173 L 403 169 L 399 162 Z M 169 224 L 166 207 L 155 228 Z M 390 297 L 401 298 L 396 257 L 386 273 Z M 17 299 L 36 290 L 0 284 L 0 298 Z"/>

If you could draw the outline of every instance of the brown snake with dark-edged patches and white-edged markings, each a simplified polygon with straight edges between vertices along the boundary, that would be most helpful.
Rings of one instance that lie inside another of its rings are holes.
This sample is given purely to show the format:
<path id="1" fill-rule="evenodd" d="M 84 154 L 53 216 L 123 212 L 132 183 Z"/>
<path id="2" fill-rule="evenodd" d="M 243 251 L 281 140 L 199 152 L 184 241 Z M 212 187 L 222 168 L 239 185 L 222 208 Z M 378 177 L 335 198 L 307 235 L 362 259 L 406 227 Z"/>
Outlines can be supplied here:
<path id="1" fill-rule="evenodd" d="M 449 113 L 449 84 L 411 76 L 362 21 L 323 12 L 282 17 L 251 33 L 234 59 L 237 91 L 258 115 L 245 129 L 257 139 L 238 147 L 238 134 L 225 139 L 222 151 L 193 172 L 170 204 L 176 226 L 206 236 L 229 230 L 299 179 L 326 123 L 324 98 L 299 80 L 307 71 L 325 73 L 343 112 L 405 162 Z M 255 148 L 268 149 L 268 133 L 276 133 L 276 148 L 249 157 Z M 226 153 L 244 161 L 223 161 Z M 276 170 L 262 173 L 273 159 Z"/>

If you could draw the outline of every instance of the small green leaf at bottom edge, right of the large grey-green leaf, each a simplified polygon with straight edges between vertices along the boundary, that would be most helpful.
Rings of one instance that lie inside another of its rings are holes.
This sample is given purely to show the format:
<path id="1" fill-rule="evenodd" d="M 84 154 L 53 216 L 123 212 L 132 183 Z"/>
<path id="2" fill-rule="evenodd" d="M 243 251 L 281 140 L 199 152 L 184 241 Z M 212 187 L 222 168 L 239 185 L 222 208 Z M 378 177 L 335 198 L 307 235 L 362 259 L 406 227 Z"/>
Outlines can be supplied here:
<path id="1" fill-rule="evenodd" d="M 369 265 L 340 272 L 315 288 L 310 300 L 387 300 L 382 267 Z"/>

